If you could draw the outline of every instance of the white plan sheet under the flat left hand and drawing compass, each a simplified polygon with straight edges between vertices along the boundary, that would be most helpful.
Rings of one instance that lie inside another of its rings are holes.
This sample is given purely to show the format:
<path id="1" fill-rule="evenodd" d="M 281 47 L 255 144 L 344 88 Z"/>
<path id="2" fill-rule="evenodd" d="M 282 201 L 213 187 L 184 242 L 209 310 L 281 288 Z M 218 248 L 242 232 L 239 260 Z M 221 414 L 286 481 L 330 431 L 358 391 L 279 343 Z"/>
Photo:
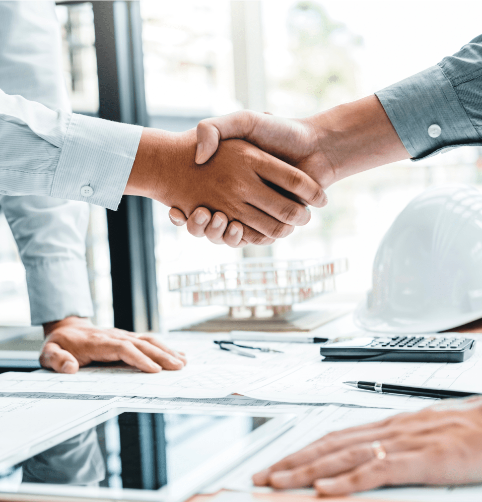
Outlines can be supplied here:
<path id="1" fill-rule="evenodd" d="M 186 352 L 189 362 L 180 371 L 148 374 L 132 368 L 89 367 L 76 374 L 10 372 L 0 375 L 0 391 L 215 398 L 258 387 L 320 357 L 313 344 L 290 343 L 269 344 L 283 350 L 281 354 L 256 351 L 255 358 L 243 357 L 221 350 L 214 338 L 222 340 L 223 334 L 163 338 Z M 261 342 L 253 345 L 263 346 Z"/>

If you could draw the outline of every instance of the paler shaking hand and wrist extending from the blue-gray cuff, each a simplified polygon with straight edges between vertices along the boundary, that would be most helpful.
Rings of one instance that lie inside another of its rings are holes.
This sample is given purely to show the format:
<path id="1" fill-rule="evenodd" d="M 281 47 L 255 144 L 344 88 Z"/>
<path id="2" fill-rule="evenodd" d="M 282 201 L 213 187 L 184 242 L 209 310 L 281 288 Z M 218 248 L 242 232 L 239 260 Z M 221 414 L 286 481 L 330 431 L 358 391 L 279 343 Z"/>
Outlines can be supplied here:
<path id="1" fill-rule="evenodd" d="M 229 138 L 244 139 L 301 169 L 323 189 L 357 172 L 410 157 L 375 95 L 308 118 L 282 118 L 245 110 L 201 120 L 197 125 L 196 162 L 206 162 L 220 140 Z M 325 198 L 323 205 L 326 203 Z M 219 231 L 213 239 L 209 221 L 198 223 L 192 215 L 188 219 L 187 213 L 175 209 L 170 216 L 178 226 L 187 221 L 193 235 L 205 234 L 219 243 Z M 231 245 L 227 237 L 229 232 L 222 242 Z M 242 234 L 237 238 L 241 242 Z"/>

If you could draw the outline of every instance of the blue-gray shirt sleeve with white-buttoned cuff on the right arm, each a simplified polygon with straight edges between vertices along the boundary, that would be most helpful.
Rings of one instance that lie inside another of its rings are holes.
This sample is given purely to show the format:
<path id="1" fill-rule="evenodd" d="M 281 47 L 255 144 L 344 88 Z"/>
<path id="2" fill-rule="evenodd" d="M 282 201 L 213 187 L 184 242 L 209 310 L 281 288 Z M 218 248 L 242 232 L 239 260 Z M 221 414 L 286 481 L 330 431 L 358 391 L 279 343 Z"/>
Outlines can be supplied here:
<path id="1" fill-rule="evenodd" d="M 482 35 L 375 94 L 412 160 L 482 145 Z M 429 134 L 431 126 L 438 135 Z"/>

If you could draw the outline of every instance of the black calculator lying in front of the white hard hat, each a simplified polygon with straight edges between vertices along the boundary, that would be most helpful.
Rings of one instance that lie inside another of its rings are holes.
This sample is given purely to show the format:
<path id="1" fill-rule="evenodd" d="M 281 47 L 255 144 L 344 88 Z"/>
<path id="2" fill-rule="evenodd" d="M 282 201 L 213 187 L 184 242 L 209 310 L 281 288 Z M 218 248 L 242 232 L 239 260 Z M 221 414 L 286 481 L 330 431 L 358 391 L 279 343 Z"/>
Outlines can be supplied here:
<path id="1" fill-rule="evenodd" d="M 459 333 L 437 335 L 357 336 L 321 345 L 325 361 L 462 362 L 475 350 L 475 340 Z"/>

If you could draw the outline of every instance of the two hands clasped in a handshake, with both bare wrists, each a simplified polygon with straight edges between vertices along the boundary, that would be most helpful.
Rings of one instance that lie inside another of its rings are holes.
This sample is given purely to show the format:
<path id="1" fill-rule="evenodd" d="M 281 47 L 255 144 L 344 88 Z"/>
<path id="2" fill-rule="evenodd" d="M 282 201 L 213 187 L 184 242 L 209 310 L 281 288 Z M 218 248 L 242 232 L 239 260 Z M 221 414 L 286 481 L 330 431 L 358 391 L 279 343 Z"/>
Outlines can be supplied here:
<path id="1" fill-rule="evenodd" d="M 308 223 L 333 182 L 409 157 L 375 95 L 303 119 L 240 111 L 196 131 L 144 129 L 124 193 L 214 243 L 270 244 Z"/>

